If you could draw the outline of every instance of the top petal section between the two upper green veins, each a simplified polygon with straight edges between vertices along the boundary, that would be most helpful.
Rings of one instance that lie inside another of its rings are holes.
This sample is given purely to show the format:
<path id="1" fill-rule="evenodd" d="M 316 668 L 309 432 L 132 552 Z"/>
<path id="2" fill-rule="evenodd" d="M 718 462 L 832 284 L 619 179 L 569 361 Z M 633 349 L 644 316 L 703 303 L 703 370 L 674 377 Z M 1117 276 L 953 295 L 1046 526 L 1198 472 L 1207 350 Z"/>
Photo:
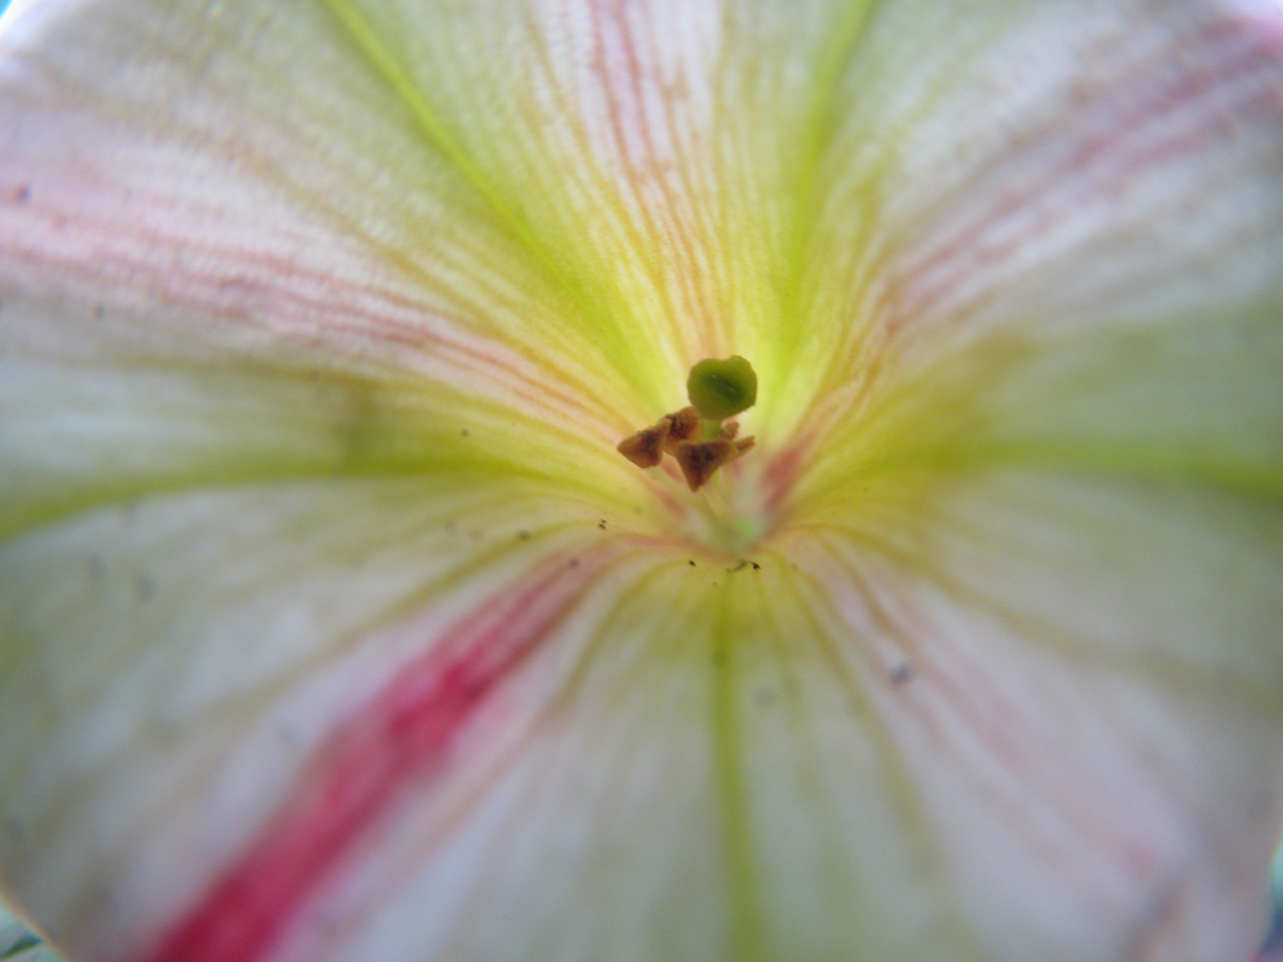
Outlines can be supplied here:
<path id="1" fill-rule="evenodd" d="M 871 4 L 330 6 L 640 373 L 740 353 L 780 403 L 798 199 Z"/>

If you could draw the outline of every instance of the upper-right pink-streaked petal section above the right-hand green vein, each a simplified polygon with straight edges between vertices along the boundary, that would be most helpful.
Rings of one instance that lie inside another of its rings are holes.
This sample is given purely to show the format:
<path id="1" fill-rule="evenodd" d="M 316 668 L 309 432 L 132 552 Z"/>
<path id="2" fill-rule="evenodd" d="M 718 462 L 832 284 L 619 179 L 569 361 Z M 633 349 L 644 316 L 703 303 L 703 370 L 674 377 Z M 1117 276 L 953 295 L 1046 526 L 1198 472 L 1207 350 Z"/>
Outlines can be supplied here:
<path id="1" fill-rule="evenodd" d="M 962 12 L 879 8 L 843 82 L 794 372 L 802 423 L 840 423 L 807 485 L 1002 457 L 1278 495 L 1277 18 Z"/>

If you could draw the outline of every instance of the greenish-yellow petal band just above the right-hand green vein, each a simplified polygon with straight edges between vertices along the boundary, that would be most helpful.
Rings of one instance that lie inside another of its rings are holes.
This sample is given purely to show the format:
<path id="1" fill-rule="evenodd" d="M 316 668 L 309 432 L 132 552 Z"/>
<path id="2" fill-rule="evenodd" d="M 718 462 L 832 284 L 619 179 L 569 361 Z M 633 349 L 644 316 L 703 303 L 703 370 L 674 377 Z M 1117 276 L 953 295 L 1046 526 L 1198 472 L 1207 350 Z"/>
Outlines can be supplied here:
<path id="1" fill-rule="evenodd" d="M 798 512 L 858 503 L 885 475 L 984 464 L 1278 504 L 1280 369 L 1283 298 L 1092 332 L 983 335 L 837 427 L 794 491 Z"/>

